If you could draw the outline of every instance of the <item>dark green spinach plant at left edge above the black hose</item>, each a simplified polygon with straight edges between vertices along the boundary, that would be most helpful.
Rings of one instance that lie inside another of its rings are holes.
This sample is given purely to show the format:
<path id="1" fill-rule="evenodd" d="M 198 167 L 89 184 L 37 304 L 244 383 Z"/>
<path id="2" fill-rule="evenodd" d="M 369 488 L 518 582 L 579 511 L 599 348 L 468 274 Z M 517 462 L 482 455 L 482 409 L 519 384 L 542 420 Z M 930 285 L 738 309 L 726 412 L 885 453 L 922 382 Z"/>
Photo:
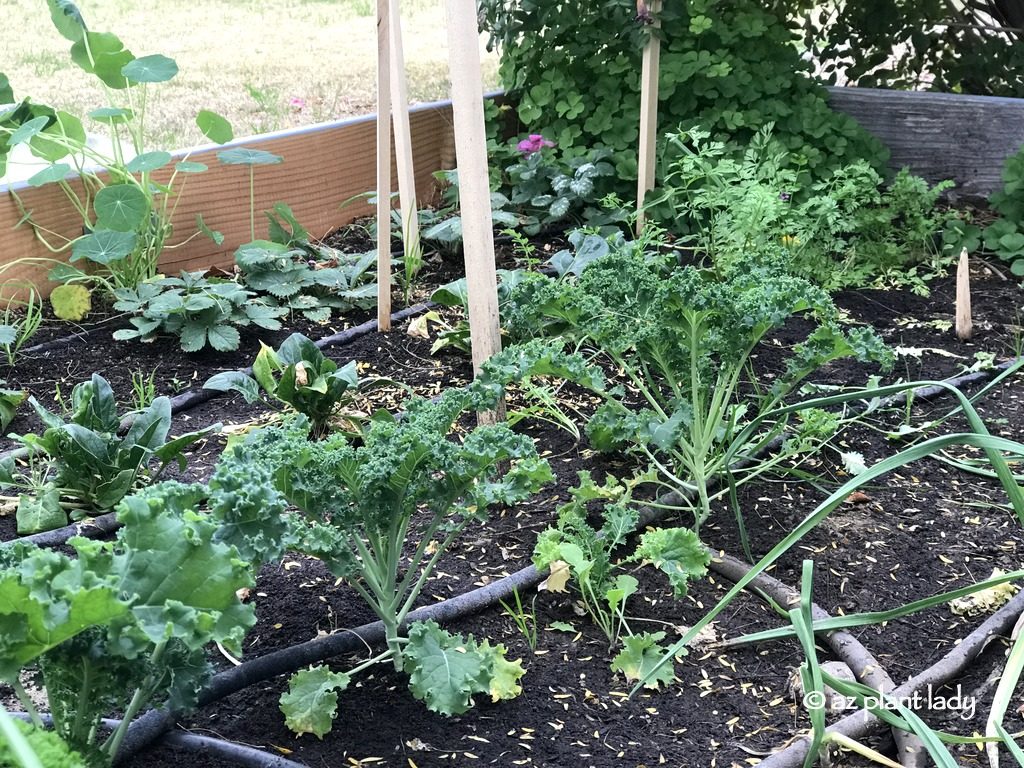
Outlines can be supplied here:
<path id="1" fill-rule="evenodd" d="M 153 483 L 172 463 L 184 466 L 184 451 L 219 425 L 170 438 L 171 402 L 158 397 L 138 412 L 124 436 L 111 385 L 99 374 L 75 386 L 71 411 L 50 413 L 34 397 L 41 434 L 16 436 L 30 450 L 28 466 L 0 462 L 0 485 L 17 497 L 17 530 L 33 534 L 113 509 L 139 484 Z"/>

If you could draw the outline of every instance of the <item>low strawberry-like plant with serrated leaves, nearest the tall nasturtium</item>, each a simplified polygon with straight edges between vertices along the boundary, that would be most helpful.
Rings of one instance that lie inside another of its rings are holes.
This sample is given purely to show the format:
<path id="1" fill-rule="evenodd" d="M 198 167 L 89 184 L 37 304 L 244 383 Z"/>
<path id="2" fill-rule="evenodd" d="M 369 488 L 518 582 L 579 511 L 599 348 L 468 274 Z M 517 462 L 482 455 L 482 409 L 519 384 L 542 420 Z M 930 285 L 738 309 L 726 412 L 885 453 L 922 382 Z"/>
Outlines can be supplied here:
<path id="1" fill-rule="evenodd" d="M 207 278 L 203 271 L 157 278 L 115 292 L 115 309 L 131 312 L 132 328 L 114 332 L 118 340 L 152 341 L 160 333 L 178 337 L 181 349 L 198 352 L 208 344 L 224 352 L 239 348 L 239 327 L 276 331 L 288 310 L 274 306 L 238 283 Z"/>

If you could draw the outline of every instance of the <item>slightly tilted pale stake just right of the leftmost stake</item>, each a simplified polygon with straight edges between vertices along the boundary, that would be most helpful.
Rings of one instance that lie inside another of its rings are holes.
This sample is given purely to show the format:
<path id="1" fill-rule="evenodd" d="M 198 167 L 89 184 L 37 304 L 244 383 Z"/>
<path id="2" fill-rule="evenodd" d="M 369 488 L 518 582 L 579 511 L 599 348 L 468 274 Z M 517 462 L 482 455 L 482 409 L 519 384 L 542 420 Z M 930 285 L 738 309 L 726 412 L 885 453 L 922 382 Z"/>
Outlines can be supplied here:
<path id="1" fill-rule="evenodd" d="M 391 40 L 391 116 L 394 121 L 394 157 L 398 167 L 398 207 L 401 209 L 401 242 L 407 254 L 420 256 L 420 217 L 416 205 L 413 168 L 413 135 L 409 127 L 409 89 L 406 85 L 406 54 L 401 45 L 401 13 L 398 0 L 388 0 Z"/>

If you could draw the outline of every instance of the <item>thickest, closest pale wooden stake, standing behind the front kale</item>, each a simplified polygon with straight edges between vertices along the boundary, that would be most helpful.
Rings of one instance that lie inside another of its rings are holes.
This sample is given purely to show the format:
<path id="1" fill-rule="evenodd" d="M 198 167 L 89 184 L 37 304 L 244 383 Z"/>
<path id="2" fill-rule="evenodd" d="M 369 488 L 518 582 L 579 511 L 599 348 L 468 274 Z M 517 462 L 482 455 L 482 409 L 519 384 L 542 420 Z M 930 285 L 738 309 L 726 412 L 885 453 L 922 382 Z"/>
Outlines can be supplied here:
<path id="1" fill-rule="evenodd" d="M 447 0 L 447 36 L 473 371 L 479 373 L 483 362 L 501 350 L 502 336 L 475 0 Z M 480 414 L 478 420 L 503 418 L 504 406 L 497 413 Z"/>

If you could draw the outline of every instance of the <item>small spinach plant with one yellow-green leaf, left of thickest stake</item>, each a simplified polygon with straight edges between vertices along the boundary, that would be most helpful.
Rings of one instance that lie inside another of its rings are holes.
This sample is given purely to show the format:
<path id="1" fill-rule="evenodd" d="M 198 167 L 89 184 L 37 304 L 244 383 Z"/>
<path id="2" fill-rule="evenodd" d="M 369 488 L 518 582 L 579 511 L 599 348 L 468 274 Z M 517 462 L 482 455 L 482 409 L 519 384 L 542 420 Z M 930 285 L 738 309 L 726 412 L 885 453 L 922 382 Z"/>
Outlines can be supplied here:
<path id="1" fill-rule="evenodd" d="M 339 415 L 344 418 L 346 431 L 359 431 L 356 417 L 345 412 L 350 410 L 360 388 L 366 388 L 364 384 L 355 360 L 339 368 L 309 339 L 295 333 L 276 350 L 262 344 L 253 362 L 252 376 L 224 371 L 207 379 L 203 387 L 240 392 L 246 402 L 255 402 L 262 390 L 268 397 L 305 416 L 310 435 L 323 437 L 332 419 Z"/>

